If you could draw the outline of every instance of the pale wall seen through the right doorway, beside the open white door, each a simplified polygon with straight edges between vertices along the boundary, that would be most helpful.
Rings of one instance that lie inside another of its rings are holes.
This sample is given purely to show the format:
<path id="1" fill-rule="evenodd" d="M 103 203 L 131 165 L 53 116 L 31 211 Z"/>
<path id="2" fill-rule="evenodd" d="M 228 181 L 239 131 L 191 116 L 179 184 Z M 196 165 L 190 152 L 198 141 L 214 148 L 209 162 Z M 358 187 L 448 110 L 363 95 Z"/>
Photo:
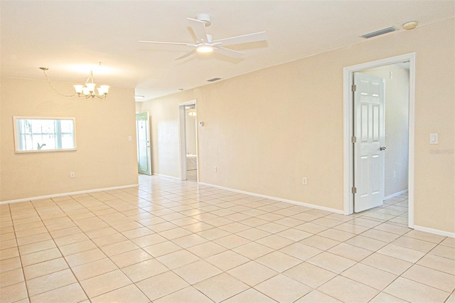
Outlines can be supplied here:
<path id="1" fill-rule="evenodd" d="M 407 190 L 409 132 L 409 70 L 398 65 L 362 70 L 385 80 L 385 184 L 384 195 Z"/>

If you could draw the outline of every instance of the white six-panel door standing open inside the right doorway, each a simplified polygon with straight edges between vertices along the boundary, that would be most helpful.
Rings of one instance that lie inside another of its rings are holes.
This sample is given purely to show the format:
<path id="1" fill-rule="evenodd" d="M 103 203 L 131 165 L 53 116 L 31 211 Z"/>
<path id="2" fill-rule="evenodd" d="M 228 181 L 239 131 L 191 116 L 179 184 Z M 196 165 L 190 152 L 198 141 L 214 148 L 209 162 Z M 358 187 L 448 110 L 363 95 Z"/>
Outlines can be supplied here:
<path id="1" fill-rule="evenodd" d="M 354 212 L 382 205 L 384 198 L 385 80 L 354 73 Z"/>

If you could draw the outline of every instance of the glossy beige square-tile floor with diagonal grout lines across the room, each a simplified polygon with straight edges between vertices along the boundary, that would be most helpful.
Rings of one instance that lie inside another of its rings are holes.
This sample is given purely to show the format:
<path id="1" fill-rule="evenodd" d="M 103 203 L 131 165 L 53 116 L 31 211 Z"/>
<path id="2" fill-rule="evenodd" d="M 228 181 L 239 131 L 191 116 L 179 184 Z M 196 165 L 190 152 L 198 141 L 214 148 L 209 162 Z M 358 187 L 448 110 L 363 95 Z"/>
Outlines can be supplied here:
<path id="1" fill-rule="evenodd" d="M 407 196 L 343 216 L 159 176 L 0 206 L 0 302 L 455 302 Z"/>

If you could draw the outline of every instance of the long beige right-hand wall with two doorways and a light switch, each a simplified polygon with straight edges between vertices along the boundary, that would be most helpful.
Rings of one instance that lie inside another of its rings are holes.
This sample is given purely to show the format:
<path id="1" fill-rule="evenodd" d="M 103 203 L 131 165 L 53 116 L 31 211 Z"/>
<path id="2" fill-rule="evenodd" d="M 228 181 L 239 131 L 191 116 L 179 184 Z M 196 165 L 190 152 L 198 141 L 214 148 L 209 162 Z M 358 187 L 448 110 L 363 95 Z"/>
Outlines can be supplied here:
<path id="1" fill-rule="evenodd" d="M 177 104 L 196 98 L 201 182 L 342 210 L 343 68 L 415 52 L 414 223 L 454 233 L 454 36 L 452 18 L 145 102 L 154 169 L 178 176 Z"/>

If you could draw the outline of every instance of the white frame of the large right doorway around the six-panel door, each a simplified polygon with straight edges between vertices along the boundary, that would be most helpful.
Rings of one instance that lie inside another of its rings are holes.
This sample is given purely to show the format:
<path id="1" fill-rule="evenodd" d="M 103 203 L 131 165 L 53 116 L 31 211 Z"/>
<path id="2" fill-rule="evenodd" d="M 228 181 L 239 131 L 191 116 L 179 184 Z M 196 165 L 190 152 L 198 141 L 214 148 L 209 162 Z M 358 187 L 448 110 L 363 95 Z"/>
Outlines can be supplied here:
<path id="1" fill-rule="evenodd" d="M 406 53 L 390 58 L 350 65 L 343 68 L 343 211 L 345 215 L 353 213 L 353 73 L 383 65 L 391 65 L 409 61 L 410 92 L 409 92 L 409 130 L 408 130 L 408 223 L 414 228 L 414 105 L 415 105 L 415 53 Z"/>

